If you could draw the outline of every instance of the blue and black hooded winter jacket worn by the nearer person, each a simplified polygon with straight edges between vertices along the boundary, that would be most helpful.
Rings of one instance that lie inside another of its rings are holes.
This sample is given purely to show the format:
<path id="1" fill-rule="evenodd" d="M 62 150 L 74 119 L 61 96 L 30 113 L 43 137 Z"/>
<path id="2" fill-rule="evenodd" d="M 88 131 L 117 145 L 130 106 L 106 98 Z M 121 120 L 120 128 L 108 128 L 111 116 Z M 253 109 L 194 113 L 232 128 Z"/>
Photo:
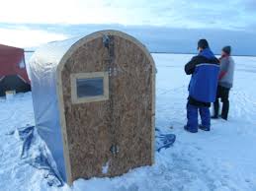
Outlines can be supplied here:
<path id="1" fill-rule="evenodd" d="M 215 100 L 219 73 L 218 63 L 211 49 L 207 48 L 186 64 L 186 74 L 192 74 L 189 86 L 190 97 L 201 102 Z"/>

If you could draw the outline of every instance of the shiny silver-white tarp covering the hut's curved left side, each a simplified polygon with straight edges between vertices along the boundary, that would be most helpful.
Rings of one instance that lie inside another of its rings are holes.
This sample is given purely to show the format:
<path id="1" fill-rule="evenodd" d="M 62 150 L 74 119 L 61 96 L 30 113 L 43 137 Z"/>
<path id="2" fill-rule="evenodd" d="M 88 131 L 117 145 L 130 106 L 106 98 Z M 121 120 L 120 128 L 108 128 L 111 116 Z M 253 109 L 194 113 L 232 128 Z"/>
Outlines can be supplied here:
<path id="1" fill-rule="evenodd" d="M 56 90 L 56 69 L 68 49 L 81 37 L 49 42 L 33 54 L 30 77 L 36 127 L 66 181 L 63 144 Z"/>

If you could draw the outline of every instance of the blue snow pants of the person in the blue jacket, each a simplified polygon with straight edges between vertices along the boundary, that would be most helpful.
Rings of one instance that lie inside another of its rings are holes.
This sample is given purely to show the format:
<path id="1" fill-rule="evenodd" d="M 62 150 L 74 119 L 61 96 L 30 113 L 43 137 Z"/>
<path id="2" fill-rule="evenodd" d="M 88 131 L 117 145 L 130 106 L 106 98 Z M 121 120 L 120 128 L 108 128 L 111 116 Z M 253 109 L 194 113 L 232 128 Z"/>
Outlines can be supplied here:
<path id="1" fill-rule="evenodd" d="M 191 132 L 194 132 L 194 133 L 198 132 L 199 113 L 202 120 L 202 126 L 204 126 L 206 129 L 209 129 L 209 130 L 211 128 L 210 108 L 207 106 L 196 106 L 188 103 L 187 104 L 187 118 L 188 118 L 187 128 Z"/>

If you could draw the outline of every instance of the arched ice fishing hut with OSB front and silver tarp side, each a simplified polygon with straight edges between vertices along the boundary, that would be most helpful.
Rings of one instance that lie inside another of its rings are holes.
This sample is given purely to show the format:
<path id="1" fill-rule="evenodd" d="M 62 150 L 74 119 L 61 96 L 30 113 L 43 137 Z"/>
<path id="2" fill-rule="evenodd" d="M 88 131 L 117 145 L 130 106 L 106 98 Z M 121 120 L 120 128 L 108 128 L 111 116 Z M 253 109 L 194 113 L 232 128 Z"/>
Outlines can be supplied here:
<path id="1" fill-rule="evenodd" d="M 40 47 L 31 59 L 36 127 L 68 184 L 154 160 L 155 65 L 124 32 Z"/>

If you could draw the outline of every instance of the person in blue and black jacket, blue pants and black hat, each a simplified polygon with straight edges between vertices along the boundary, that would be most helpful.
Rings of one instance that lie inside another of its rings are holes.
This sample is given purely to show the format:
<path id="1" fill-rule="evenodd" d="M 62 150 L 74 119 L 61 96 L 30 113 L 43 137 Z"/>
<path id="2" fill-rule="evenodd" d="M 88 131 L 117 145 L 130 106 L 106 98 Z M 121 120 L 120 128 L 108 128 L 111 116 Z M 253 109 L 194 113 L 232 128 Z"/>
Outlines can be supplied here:
<path id="1" fill-rule="evenodd" d="M 185 65 L 186 74 L 192 77 L 187 103 L 188 122 L 184 129 L 191 133 L 197 133 L 199 128 L 204 131 L 211 130 L 210 107 L 215 100 L 219 73 L 219 61 L 206 39 L 199 40 L 198 50 L 199 54 Z M 201 125 L 198 122 L 198 113 L 201 116 Z"/>

